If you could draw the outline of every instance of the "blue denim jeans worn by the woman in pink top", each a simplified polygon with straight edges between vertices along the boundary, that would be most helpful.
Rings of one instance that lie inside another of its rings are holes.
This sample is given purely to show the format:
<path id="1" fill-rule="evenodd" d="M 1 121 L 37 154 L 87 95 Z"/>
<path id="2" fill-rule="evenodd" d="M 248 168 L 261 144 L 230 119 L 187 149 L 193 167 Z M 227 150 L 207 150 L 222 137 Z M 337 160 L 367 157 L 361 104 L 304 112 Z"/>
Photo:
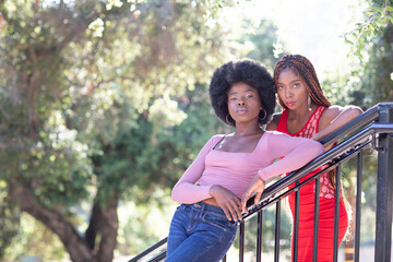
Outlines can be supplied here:
<path id="1" fill-rule="evenodd" d="M 181 204 L 170 223 L 166 262 L 222 260 L 237 233 L 219 206 L 199 202 Z"/>

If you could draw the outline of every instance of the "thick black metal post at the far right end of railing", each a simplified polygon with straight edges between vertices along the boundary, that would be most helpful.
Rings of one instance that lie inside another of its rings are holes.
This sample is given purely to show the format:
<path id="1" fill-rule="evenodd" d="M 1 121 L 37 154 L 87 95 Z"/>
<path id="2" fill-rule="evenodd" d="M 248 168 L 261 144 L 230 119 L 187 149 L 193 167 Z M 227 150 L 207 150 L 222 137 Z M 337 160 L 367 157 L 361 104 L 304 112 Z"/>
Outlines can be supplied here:
<path id="1" fill-rule="evenodd" d="M 393 122 L 389 108 L 381 108 L 379 122 Z M 376 260 L 391 261 L 392 248 L 392 192 L 393 192 L 393 138 L 391 134 L 379 134 L 378 177 L 377 177 L 377 223 L 376 223 Z"/>

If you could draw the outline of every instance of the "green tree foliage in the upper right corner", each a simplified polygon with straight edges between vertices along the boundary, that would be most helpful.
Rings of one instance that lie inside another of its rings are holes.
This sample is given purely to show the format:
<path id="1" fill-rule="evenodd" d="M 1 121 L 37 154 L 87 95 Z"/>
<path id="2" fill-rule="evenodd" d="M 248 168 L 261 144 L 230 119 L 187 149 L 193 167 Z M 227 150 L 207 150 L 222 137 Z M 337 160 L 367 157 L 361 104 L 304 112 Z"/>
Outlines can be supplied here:
<path id="1" fill-rule="evenodd" d="M 393 1 L 368 2 L 365 22 L 346 34 L 352 55 L 361 61 L 348 82 L 349 95 L 364 108 L 393 100 Z"/>

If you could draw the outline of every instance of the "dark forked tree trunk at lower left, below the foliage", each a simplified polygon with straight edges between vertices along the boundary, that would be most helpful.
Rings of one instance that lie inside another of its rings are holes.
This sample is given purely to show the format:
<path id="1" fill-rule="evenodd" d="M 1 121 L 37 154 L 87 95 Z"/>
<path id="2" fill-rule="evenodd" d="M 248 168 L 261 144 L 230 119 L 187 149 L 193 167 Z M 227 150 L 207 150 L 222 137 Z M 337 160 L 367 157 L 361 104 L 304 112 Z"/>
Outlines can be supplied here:
<path id="1" fill-rule="evenodd" d="M 94 205 L 86 237 L 82 238 L 62 214 L 40 204 L 26 186 L 13 181 L 10 195 L 19 204 L 21 211 L 27 212 L 59 236 L 73 262 L 111 262 L 114 260 L 119 226 L 117 198 L 111 198 L 104 206 Z M 95 243 L 97 235 L 100 236 L 98 245 Z"/>

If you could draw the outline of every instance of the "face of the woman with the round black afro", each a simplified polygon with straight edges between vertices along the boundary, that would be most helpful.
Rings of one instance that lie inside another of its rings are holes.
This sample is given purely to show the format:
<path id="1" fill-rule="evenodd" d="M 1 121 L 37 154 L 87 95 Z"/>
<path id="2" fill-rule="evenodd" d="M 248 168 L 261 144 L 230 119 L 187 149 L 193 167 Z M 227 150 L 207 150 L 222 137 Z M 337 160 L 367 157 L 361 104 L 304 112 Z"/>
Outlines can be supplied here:
<path id="1" fill-rule="evenodd" d="M 228 110 L 237 123 L 252 120 L 258 122 L 262 110 L 258 91 L 243 82 L 233 84 L 228 92 Z"/>

